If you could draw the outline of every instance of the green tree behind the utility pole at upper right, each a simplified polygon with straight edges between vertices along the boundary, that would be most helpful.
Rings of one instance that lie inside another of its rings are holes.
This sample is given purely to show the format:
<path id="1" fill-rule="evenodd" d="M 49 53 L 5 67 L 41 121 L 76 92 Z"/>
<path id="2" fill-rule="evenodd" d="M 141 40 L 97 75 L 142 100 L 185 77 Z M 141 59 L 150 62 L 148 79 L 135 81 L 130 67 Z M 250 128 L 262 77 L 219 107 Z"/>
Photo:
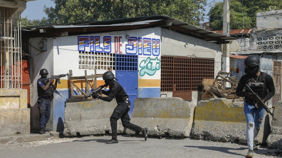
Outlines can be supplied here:
<path id="1" fill-rule="evenodd" d="M 256 27 L 256 13 L 270 11 L 269 6 L 275 10 L 282 9 L 281 0 L 230 0 L 230 28 L 243 29 Z M 243 8 L 243 13 L 242 13 Z M 222 30 L 223 27 L 223 2 L 211 5 L 208 12 L 212 30 Z M 244 16 L 244 25 L 243 25 Z"/>

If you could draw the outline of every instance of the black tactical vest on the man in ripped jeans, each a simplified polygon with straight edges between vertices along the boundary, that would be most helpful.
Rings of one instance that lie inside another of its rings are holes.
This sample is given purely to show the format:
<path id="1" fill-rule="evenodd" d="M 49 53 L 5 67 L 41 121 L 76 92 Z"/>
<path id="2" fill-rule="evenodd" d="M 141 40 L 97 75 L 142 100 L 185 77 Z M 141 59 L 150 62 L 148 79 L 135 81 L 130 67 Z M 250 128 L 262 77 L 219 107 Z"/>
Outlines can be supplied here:
<path id="1" fill-rule="evenodd" d="M 254 80 L 253 78 L 250 78 L 247 80 L 248 86 L 255 92 L 259 98 L 263 99 L 265 95 L 267 94 L 267 88 L 265 84 L 265 78 L 266 78 L 266 73 L 260 72 L 260 76 L 257 80 Z M 246 92 L 248 92 L 246 90 Z M 246 98 L 247 101 L 253 102 L 253 100 L 250 100 L 249 98 Z"/>

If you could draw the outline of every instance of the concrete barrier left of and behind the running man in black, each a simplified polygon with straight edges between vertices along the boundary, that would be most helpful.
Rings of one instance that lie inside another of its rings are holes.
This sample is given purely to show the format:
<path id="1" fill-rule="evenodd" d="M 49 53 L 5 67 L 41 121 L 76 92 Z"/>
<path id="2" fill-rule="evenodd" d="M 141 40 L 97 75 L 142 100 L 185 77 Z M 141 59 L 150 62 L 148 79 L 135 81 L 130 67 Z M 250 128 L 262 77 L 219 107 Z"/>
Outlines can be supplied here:
<path id="1" fill-rule="evenodd" d="M 64 136 L 111 134 L 110 117 L 115 107 L 115 99 L 66 103 Z M 118 133 L 123 131 L 122 122 L 118 120 Z"/>

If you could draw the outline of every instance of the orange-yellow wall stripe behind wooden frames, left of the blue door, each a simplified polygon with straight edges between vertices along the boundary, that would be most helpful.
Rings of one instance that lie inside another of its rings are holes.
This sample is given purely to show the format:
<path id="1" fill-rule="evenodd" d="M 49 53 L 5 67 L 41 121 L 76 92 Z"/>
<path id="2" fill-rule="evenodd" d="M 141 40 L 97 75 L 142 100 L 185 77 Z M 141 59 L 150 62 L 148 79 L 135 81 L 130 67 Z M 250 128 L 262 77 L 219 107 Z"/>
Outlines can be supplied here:
<path id="1" fill-rule="evenodd" d="M 57 84 L 57 88 L 64 88 L 64 89 L 70 88 L 70 81 L 69 80 L 60 80 L 60 81 L 61 81 L 61 84 Z M 91 83 L 92 80 L 88 80 L 88 82 Z M 76 86 L 78 86 L 80 89 L 84 89 L 85 85 L 86 85 L 85 80 L 73 80 L 73 83 Z M 97 80 L 97 85 L 95 85 L 95 88 L 97 88 L 98 86 L 104 85 L 104 84 L 105 84 L 104 80 Z"/>

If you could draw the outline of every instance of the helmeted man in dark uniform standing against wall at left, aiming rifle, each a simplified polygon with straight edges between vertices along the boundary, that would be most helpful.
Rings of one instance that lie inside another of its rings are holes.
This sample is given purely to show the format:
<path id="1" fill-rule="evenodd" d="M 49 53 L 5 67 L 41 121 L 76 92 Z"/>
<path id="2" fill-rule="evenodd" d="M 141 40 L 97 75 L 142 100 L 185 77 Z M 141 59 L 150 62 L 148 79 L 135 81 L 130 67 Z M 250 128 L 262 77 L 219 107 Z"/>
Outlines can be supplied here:
<path id="1" fill-rule="evenodd" d="M 37 93 L 38 93 L 38 109 L 39 109 L 39 134 L 44 134 L 44 132 L 50 132 L 51 130 L 46 129 L 46 124 L 49 121 L 51 113 L 51 101 L 50 98 L 53 96 L 54 90 L 57 88 L 57 80 L 53 85 L 54 79 L 43 80 L 47 78 L 48 71 L 46 69 L 41 69 L 39 75 L 41 78 L 37 80 Z"/>

